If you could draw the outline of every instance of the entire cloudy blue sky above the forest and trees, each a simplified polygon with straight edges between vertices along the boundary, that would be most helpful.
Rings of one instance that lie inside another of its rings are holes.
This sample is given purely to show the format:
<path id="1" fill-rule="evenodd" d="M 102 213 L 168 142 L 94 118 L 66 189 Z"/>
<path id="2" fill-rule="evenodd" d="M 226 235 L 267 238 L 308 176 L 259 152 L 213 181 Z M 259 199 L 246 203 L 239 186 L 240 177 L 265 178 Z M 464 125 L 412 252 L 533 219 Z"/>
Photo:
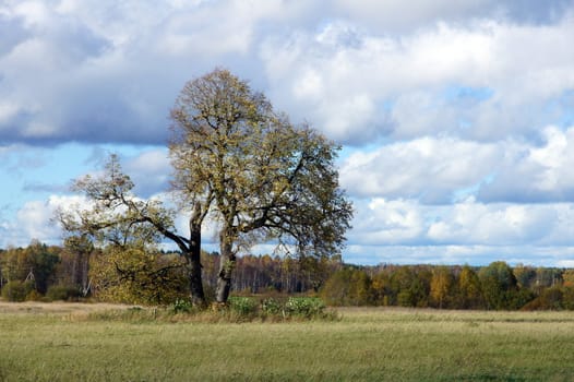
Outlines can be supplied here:
<path id="1" fill-rule="evenodd" d="M 342 145 L 344 261 L 574 266 L 573 40 L 574 0 L 0 0 L 0 248 L 60 242 L 110 153 L 165 192 L 225 68 Z"/>

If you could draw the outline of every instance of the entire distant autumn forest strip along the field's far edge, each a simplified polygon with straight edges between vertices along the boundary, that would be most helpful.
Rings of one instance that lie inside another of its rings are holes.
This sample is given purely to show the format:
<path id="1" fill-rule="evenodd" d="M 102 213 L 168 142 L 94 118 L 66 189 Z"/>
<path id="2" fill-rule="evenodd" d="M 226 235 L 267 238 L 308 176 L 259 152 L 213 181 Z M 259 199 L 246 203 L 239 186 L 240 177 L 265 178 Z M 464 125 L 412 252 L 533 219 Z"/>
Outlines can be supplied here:
<path id="1" fill-rule="evenodd" d="M 204 286 L 213 294 L 219 255 L 202 254 Z M 177 252 L 132 249 L 116 253 L 89 242 L 33 241 L 0 250 L 4 300 L 95 300 L 169 305 L 189 293 Z M 574 310 L 574 270 L 510 266 L 359 266 L 335 259 L 243 255 L 232 293 L 242 296 L 321 297 L 330 306 L 398 306 L 438 309 Z"/>

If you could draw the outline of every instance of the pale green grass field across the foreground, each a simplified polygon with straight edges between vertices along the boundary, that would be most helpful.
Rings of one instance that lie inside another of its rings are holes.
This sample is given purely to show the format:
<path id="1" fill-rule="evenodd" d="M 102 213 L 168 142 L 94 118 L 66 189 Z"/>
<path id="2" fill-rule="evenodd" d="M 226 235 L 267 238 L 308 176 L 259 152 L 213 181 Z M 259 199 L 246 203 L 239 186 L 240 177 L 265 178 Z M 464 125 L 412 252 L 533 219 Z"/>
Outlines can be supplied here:
<path id="1" fill-rule="evenodd" d="M 574 381 L 574 312 L 238 324 L 97 313 L 110 309 L 127 307 L 0 302 L 0 381 Z"/>

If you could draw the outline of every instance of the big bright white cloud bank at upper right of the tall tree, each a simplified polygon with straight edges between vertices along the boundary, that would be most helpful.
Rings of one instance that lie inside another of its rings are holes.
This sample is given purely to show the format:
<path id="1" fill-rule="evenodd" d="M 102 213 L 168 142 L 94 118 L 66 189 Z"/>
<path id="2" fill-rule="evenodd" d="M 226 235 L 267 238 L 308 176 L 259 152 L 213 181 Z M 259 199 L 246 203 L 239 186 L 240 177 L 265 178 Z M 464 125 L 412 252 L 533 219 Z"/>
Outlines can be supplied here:
<path id="1" fill-rule="evenodd" d="M 567 15 L 545 26 L 439 22 L 388 36 L 333 21 L 270 37 L 261 58 L 277 104 L 344 143 L 534 139 L 561 122 L 555 105 L 574 87 L 573 25 Z"/>

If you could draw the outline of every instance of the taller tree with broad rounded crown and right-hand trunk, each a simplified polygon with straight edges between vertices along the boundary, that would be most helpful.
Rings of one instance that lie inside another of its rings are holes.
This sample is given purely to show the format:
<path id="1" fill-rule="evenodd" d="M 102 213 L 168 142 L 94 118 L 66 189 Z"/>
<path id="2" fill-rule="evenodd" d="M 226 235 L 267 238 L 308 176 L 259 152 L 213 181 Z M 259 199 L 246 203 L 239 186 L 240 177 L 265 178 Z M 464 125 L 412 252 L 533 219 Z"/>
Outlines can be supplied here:
<path id="1" fill-rule="evenodd" d="M 338 146 L 291 124 L 227 70 L 187 83 L 171 119 L 180 200 L 208 208 L 218 223 L 218 302 L 229 296 L 237 253 L 254 242 L 295 256 L 339 252 L 352 210 L 338 187 Z"/>

